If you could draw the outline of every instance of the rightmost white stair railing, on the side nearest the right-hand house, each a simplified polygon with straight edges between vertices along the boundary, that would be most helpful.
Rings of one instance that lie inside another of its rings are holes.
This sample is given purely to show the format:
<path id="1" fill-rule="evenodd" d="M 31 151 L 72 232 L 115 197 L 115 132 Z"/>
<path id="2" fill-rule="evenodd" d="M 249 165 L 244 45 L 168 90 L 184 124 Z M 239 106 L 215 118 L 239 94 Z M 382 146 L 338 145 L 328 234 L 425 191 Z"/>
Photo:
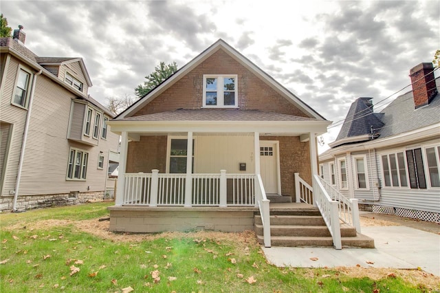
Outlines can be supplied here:
<path id="1" fill-rule="evenodd" d="M 338 214 L 339 219 L 349 226 L 356 228 L 356 231 L 360 233 L 360 216 L 358 199 L 347 198 L 342 195 L 331 184 L 325 182 L 321 177 L 318 177 L 319 182 L 324 186 L 329 197 L 338 202 Z"/>

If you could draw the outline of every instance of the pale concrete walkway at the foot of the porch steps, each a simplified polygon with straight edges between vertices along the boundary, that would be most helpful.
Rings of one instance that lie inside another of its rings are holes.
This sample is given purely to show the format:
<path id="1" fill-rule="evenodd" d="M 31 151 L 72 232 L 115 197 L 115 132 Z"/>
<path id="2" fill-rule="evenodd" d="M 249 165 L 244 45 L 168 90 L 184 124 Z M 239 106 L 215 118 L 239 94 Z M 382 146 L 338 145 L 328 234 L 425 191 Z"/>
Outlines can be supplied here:
<path id="1" fill-rule="evenodd" d="M 375 248 L 263 248 L 267 261 L 298 268 L 421 268 L 440 276 L 440 235 L 408 226 L 366 226 L 362 234 L 375 240 Z"/>

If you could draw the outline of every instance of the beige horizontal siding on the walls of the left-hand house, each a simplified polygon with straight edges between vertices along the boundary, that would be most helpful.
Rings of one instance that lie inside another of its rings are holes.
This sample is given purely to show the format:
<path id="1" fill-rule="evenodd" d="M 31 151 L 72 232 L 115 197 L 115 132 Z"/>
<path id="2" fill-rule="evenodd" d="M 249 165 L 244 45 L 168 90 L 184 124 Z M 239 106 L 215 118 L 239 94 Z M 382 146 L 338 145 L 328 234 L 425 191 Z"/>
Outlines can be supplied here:
<path id="1" fill-rule="evenodd" d="M 15 188 L 25 116 L 28 112 L 10 104 L 18 65 L 17 59 L 11 58 L 0 101 L 1 120 L 14 125 L 2 195 L 10 195 L 10 191 Z M 43 74 L 36 77 L 33 99 L 19 196 L 69 193 L 69 191 L 104 191 L 109 149 L 118 151 L 118 135 L 108 131 L 107 140 L 96 140 L 97 146 L 67 140 L 72 92 Z M 71 147 L 89 153 L 85 181 L 66 180 Z M 104 155 L 103 169 L 98 169 L 100 151 Z"/>

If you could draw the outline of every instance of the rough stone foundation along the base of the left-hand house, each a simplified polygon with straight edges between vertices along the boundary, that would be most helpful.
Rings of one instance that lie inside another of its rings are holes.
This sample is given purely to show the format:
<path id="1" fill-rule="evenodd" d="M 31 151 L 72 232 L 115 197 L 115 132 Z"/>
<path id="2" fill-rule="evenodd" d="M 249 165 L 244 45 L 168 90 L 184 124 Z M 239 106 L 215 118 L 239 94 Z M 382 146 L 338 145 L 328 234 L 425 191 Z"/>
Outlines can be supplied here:
<path id="1" fill-rule="evenodd" d="M 50 195 L 21 195 L 17 197 L 17 210 L 32 210 L 34 208 L 50 208 L 52 206 L 69 206 L 96 202 L 104 199 L 104 191 L 78 193 L 77 197 L 70 197 L 70 193 Z M 12 210 L 13 196 L 0 197 L 0 211 Z"/>

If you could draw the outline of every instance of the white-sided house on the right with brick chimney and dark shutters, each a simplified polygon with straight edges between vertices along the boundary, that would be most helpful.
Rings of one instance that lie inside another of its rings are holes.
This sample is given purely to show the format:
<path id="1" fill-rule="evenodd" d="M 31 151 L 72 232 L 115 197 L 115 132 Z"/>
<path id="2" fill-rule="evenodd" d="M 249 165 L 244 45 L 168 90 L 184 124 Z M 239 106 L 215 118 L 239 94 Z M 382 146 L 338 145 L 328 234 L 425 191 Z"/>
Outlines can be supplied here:
<path id="1" fill-rule="evenodd" d="M 376 213 L 440 222 L 440 95 L 431 63 L 410 70 L 412 91 L 380 113 L 371 98 L 349 109 L 320 175 Z"/>

